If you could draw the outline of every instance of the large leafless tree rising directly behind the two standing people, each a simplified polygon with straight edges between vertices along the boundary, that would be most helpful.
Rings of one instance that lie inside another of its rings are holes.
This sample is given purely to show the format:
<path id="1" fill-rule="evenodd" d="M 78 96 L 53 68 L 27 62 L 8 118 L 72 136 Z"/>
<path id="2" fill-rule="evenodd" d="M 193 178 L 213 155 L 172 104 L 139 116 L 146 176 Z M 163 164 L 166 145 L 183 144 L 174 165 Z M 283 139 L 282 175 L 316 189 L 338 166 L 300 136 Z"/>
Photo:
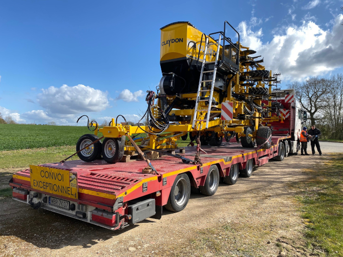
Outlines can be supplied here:
<path id="1" fill-rule="evenodd" d="M 307 79 L 300 83 L 295 81 L 288 84 L 288 88 L 296 90 L 296 98 L 301 107 L 310 115 L 311 124 L 315 124 L 318 115 L 326 105 L 325 95 L 327 93 L 328 79 L 318 77 Z"/>

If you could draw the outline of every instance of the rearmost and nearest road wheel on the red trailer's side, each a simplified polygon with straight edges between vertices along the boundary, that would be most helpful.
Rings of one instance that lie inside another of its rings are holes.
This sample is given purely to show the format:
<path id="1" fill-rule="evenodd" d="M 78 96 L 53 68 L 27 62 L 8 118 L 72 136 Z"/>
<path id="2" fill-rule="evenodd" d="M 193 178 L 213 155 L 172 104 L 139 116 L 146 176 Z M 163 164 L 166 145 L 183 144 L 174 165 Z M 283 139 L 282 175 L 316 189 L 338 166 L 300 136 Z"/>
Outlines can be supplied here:
<path id="1" fill-rule="evenodd" d="M 185 209 L 191 195 L 191 182 L 186 174 L 179 174 L 172 185 L 166 209 L 179 212 Z"/>

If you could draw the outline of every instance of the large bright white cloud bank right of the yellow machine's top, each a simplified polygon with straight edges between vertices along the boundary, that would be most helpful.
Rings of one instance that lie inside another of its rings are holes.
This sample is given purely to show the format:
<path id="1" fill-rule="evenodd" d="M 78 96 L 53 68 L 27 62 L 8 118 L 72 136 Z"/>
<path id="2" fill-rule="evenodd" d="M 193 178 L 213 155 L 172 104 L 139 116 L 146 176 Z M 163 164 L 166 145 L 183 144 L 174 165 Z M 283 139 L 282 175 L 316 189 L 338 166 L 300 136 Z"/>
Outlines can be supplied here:
<path id="1" fill-rule="evenodd" d="M 314 21 L 279 29 L 270 42 L 263 43 L 262 30 L 253 31 L 245 21 L 239 23 L 242 44 L 264 57 L 264 65 L 281 72 L 283 79 L 297 80 L 324 75 L 343 66 L 343 15 L 334 20 L 331 30 L 323 30 Z"/>

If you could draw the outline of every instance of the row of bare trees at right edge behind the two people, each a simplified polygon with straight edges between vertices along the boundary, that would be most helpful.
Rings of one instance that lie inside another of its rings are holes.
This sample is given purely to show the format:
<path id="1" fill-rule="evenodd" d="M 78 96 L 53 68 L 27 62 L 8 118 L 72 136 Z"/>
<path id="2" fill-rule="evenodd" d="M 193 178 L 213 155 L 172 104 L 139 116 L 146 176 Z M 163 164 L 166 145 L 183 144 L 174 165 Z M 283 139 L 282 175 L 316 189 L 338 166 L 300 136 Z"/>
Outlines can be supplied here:
<path id="1" fill-rule="evenodd" d="M 315 124 L 324 138 L 343 139 L 343 74 L 313 77 L 287 85 L 307 112 L 307 125 Z"/>

